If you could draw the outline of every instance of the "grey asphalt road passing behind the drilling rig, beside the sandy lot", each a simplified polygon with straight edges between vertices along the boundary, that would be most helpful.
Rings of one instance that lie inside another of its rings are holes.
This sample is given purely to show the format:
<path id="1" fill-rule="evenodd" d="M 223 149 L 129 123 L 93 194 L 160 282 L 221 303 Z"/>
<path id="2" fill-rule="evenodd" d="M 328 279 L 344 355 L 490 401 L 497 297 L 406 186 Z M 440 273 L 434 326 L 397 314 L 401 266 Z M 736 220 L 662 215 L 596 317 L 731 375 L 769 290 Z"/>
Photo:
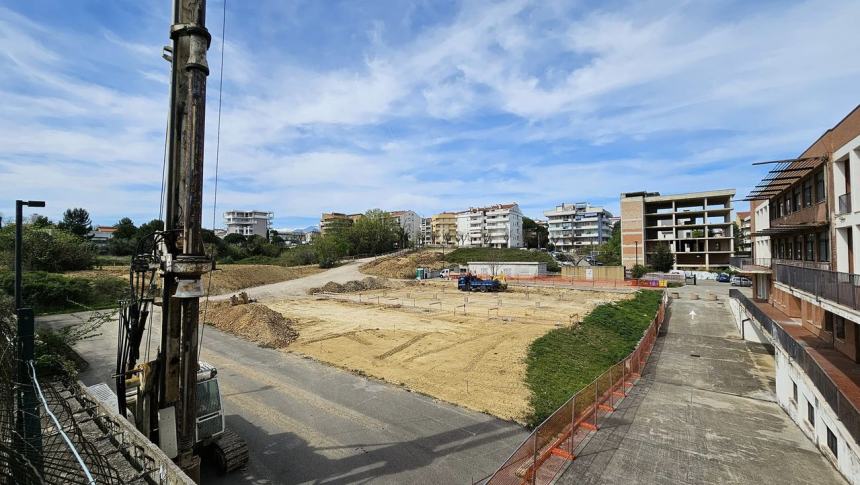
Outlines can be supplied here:
<path id="1" fill-rule="evenodd" d="M 340 270 L 333 276 L 351 277 L 349 266 L 332 270 Z M 258 296 L 299 291 L 303 283 Z M 39 318 L 37 325 L 75 321 L 59 315 Z M 115 342 L 112 323 L 99 337 L 77 344 L 90 363 L 84 383 L 110 383 Z M 152 342 L 159 342 L 156 331 Z M 217 477 L 204 466 L 205 483 L 471 483 L 494 471 L 527 436 L 519 425 L 211 327 L 201 360 L 218 367 L 227 425 L 251 450 L 244 471 Z"/>

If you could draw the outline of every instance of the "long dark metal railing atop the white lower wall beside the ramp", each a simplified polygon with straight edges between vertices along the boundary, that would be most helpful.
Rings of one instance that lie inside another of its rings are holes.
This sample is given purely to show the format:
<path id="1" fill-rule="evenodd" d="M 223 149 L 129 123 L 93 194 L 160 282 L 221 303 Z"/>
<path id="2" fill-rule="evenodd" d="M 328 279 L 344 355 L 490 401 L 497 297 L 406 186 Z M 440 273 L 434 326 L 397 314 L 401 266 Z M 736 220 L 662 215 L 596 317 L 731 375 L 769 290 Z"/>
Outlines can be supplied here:
<path id="1" fill-rule="evenodd" d="M 803 369 L 803 372 L 812 381 L 818 392 L 824 396 L 824 400 L 827 401 L 839 420 L 842 421 L 854 441 L 860 443 L 860 411 L 809 354 L 806 346 L 797 342 L 794 337 L 783 330 L 778 322 L 767 316 L 756 302 L 744 296 L 739 290 L 729 290 L 729 297 L 736 299 L 747 314 L 767 331 L 773 344 L 778 345 L 796 365 Z"/>

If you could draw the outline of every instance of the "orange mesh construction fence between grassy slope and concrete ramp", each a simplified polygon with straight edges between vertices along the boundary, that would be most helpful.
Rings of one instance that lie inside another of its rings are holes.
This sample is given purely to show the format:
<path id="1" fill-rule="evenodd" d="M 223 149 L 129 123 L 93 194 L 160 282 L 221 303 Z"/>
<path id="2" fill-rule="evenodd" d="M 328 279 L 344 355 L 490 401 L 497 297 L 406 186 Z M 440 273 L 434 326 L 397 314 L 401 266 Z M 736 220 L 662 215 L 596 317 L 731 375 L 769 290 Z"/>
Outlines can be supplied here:
<path id="1" fill-rule="evenodd" d="M 621 362 L 571 396 L 505 460 L 485 482 L 487 485 L 551 483 L 589 433 L 597 431 L 642 374 L 665 317 L 668 294 L 642 339 Z"/>

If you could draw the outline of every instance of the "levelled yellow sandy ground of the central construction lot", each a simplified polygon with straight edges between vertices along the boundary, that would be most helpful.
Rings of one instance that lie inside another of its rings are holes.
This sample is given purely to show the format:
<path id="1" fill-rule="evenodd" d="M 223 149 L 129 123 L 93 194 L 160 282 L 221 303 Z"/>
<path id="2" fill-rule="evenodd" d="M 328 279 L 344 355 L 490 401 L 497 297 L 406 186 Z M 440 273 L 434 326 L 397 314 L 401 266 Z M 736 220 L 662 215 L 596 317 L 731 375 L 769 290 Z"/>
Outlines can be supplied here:
<path id="1" fill-rule="evenodd" d="M 535 288 L 466 294 L 453 282 L 435 282 L 268 306 L 298 330 L 291 351 L 522 422 L 530 411 L 529 344 L 596 305 L 627 297 Z"/>

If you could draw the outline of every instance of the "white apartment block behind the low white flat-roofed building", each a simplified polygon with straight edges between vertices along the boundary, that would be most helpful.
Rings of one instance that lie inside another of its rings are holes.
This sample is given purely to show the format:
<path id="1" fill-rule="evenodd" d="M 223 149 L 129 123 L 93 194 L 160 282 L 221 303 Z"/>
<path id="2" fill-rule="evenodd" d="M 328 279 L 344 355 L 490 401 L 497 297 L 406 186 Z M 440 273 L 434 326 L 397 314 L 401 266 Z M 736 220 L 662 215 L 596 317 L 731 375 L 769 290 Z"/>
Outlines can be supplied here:
<path id="1" fill-rule="evenodd" d="M 457 244 L 460 247 L 525 246 L 523 213 L 516 203 L 472 207 L 458 213 L 456 218 Z"/>

